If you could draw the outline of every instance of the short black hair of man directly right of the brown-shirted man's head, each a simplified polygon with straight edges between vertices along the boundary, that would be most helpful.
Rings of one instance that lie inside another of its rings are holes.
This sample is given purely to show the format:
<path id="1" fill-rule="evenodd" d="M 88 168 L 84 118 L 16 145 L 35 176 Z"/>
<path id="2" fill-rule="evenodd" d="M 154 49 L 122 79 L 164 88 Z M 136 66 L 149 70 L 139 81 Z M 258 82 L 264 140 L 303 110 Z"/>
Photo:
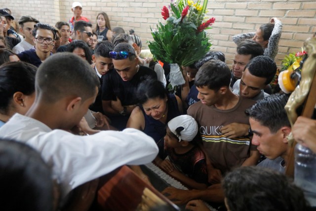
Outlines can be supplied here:
<path id="1" fill-rule="evenodd" d="M 257 56 L 245 66 L 253 76 L 266 78 L 265 84 L 270 84 L 276 75 L 276 62 L 268 56 Z"/>

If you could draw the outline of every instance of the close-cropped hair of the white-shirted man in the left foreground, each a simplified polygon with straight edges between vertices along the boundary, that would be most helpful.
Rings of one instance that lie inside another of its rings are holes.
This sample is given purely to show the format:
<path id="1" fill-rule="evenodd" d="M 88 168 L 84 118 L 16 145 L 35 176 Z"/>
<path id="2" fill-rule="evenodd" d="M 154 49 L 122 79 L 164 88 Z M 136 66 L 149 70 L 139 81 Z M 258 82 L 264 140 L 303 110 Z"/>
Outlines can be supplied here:
<path id="1" fill-rule="evenodd" d="M 82 102 L 95 94 L 100 81 L 88 62 L 74 53 L 49 56 L 36 74 L 36 94 L 46 103 L 67 96 L 78 96 Z"/>

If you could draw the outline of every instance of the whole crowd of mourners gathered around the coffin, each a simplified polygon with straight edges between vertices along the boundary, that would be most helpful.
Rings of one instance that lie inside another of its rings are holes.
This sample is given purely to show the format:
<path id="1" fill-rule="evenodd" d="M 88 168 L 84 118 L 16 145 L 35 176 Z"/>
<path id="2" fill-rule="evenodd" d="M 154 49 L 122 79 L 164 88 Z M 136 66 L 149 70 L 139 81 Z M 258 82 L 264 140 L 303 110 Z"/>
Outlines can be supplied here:
<path id="1" fill-rule="evenodd" d="M 142 50 L 133 30 L 112 29 L 105 12 L 92 29 L 80 2 L 71 10 L 68 22 L 51 26 L 28 15 L 15 22 L 0 9 L 5 210 L 84 210 L 93 200 L 73 202 L 80 187 L 94 185 L 95 194 L 122 165 L 150 184 L 140 168 L 150 162 L 189 188 L 162 191 L 188 210 L 208 211 L 200 200 L 229 211 L 313 209 L 284 175 L 287 137 L 316 152 L 316 121 L 291 126 L 289 95 L 271 86 L 280 20 L 233 36 L 231 69 L 217 51 L 181 67 L 185 84 L 170 93 L 169 64 Z"/>

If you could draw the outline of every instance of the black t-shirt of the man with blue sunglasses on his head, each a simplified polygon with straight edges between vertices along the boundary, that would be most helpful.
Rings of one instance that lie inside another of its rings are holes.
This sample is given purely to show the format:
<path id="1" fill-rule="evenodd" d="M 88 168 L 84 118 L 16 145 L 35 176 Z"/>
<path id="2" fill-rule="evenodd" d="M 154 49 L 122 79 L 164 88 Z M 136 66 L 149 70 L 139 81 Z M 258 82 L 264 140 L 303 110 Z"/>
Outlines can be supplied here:
<path id="1" fill-rule="evenodd" d="M 111 69 L 103 77 L 102 100 L 116 100 L 118 97 L 123 106 L 137 104 L 136 90 L 146 77 L 157 80 L 156 72 L 144 66 L 139 66 L 138 72 L 127 82 L 121 79 L 115 69 Z"/>

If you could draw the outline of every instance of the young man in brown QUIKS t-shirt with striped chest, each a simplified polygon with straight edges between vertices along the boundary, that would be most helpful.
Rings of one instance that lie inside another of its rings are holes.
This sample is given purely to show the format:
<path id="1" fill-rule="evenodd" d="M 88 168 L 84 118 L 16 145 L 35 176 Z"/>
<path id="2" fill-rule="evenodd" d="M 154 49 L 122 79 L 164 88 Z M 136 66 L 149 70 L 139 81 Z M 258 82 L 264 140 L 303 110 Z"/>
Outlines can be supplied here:
<path id="1" fill-rule="evenodd" d="M 219 60 L 205 63 L 197 72 L 195 84 L 200 101 L 189 107 L 188 115 L 197 121 L 207 157 L 208 178 L 213 185 L 206 190 L 164 190 L 163 193 L 170 194 L 168 198 L 177 203 L 192 199 L 223 201 L 221 185 L 218 184 L 222 173 L 234 167 L 256 165 L 260 158 L 249 137 L 228 138 L 221 133 L 221 127 L 231 123 L 249 125 L 244 112 L 255 103 L 235 95 L 229 88 L 230 80 L 229 67 Z"/>

